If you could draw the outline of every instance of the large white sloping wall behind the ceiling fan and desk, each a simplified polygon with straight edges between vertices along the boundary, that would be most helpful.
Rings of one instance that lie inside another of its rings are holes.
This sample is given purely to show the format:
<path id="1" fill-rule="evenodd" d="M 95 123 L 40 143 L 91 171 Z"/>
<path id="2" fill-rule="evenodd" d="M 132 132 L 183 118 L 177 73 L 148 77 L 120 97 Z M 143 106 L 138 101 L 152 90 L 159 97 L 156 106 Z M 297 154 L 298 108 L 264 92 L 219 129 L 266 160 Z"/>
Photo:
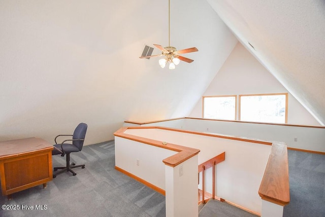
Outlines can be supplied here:
<path id="1" fill-rule="evenodd" d="M 0 140 L 186 116 L 237 43 L 206 1 L 172 1 L 171 46 L 199 49 L 173 71 L 139 58 L 168 46 L 168 1 L 2 0 L 0 29 Z"/>

